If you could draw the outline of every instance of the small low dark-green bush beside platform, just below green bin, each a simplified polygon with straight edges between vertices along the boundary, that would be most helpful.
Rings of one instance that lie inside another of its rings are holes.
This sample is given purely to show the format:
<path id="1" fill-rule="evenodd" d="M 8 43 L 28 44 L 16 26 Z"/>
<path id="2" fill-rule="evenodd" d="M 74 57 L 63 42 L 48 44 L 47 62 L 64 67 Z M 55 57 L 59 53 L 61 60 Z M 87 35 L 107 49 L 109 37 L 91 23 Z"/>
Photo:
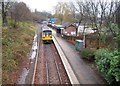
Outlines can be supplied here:
<path id="1" fill-rule="evenodd" d="M 88 60 L 92 60 L 94 59 L 94 52 L 90 50 L 89 48 L 84 48 L 81 50 L 81 56 Z"/>

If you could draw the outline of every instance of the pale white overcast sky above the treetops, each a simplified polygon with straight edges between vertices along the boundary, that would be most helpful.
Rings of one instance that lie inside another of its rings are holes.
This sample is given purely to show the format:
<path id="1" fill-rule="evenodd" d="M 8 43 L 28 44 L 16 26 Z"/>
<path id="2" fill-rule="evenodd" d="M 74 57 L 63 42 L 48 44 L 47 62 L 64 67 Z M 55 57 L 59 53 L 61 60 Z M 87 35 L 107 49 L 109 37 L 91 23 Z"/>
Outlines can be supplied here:
<path id="1" fill-rule="evenodd" d="M 68 2 L 73 0 L 19 0 L 27 4 L 27 6 L 34 11 L 37 9 L 37 11 L 47 11 L 47 12 L 53 12 L 54 7 L 57 5 L 57 3 L 60 2 Z"/>

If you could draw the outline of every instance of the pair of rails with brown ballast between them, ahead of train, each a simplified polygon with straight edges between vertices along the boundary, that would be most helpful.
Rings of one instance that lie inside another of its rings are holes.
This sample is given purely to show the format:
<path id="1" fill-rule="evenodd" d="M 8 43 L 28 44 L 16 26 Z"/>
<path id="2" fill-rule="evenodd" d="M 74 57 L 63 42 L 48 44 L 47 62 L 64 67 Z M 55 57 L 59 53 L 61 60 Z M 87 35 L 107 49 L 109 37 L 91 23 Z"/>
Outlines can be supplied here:
<path id="1" fill-rule="evenodd" d="M 53 44 L 45 45 L 46 56 L 46 70 L 47 70 L 47 83 L 48 84 L 63 84 L 62 76 L 60 73 L 59 63 L 57 63 L 56 53 Z M 49 55 L 49 57 L 48 57 Z"/>

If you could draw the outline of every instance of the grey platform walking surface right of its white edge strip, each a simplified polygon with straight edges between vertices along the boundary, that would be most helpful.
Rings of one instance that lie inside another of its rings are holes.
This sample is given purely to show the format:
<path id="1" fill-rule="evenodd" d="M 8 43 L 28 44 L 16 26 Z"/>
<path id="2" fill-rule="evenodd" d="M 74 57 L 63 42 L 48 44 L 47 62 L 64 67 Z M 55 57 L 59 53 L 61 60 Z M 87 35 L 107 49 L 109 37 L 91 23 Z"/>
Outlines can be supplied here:
<path id="1" fill-rule="evenodd" d="M 106 84 L 105 80 L 101 78 L 95 71 L 93 71 L 80 57 L 75 46 L 68 43 L 62 37 L 58 37 L 53 31 L 53 36 L 61 46 L 66 59 L 68 60 L 73 72 L 75 73 L 80 84 Z"/>

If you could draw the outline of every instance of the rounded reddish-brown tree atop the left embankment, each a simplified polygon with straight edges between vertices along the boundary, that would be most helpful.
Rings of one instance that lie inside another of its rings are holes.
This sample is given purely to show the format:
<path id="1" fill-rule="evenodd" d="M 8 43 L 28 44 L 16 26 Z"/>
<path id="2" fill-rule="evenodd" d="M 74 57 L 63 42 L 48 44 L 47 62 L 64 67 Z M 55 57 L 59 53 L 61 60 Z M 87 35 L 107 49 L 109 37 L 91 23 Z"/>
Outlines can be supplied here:
<path id="1" fill-rule="evenodd" d="M 31 11 L 23 2 L 14 3 L 9 12 L 11 19 L 14 20 L 14 28 L 16 28 L 17 22 L 32 20 Z"/>

